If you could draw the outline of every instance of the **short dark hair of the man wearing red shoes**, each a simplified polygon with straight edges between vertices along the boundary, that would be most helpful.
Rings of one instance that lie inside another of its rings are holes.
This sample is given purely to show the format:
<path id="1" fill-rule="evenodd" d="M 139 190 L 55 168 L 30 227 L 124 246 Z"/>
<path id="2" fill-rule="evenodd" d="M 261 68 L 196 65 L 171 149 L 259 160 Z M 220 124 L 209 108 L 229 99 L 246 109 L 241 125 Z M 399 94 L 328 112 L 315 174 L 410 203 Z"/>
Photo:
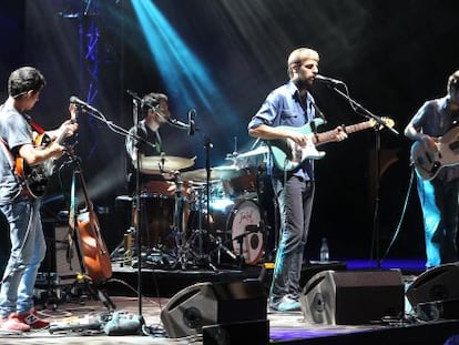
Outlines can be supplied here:
<path id="1" fill-rule="evenodd" d="M 38 92 L 47 81 L 43 74 L 33 67 L 22 67 L 11 72 L 8 79 L 8 94 L 12 98 L 19 98 L 29 91 Z"/>

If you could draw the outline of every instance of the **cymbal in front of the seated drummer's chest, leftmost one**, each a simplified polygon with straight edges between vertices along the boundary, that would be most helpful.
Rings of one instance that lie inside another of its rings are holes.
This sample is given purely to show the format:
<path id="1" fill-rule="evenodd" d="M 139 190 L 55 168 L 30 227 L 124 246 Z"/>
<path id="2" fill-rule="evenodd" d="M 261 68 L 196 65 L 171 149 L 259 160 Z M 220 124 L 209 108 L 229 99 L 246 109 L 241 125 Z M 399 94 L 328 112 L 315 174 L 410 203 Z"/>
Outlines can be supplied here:
<path id="1" fill-rule="evenodd" d="M 144 174 L 172 172 L 194 165 L 196 158 L 187 159 L 175 155 L 141 155 L 140 170 Z M 134 162 L 134 165 L 136 163 Z"/>

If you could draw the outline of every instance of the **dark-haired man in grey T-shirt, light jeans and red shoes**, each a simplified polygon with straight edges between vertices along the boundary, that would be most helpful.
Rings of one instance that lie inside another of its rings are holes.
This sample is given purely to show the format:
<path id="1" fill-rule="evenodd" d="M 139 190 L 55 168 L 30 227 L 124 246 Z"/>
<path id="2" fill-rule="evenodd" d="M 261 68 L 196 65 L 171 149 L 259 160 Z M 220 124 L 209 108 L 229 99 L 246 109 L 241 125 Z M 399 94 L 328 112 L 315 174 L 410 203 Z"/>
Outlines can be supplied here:
<path id="1" fill-rule="evenodd" d="M 14 171 L 18 156 L 27 164 L 35 165 L 63 154 L 64 148 L 54 142 L 44 148 L 34 145 L 37 133 L 26 114 L 39 101 L 44 84 L 40 71 L 31 67 L 20 68 L 10 74 L 9 97 L 0 106 L 0 211 L 8 220 L 11 241 L 0 290 L 0 327 L 7 331 L 26 332 L 49 325 L 33 308 L 33 286 L 47 250 L 40 199 L 24 193 Z M 74 108 L 71 111 L 75 111 Z M 78 124 L 68 120 L 58 130 L 47 133 L 54 139 L 62 131 L 71 135 L 76 129 Z"/>

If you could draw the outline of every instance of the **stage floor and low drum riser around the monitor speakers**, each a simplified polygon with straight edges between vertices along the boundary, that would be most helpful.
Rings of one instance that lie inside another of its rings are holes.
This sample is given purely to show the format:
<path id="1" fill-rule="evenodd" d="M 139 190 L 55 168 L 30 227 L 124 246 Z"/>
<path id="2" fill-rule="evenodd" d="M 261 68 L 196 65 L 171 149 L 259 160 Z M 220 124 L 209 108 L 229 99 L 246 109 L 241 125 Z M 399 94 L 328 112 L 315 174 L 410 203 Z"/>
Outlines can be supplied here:
<path id="1" fill-rule="evenodd" d="M 368 261 L 332 262 L 328 264 L 307 263 L 303 267 L 302 284 L 306 284 L 310 277 L 320 272 L 365 272 L 375 271 L 374 263 Z M 402 282 L 409 286 L 417 275 L 422 272 L 421 263 L 414 261 L 386 262 L 380 270 L 390 270 L 395 265 L 401 265 Z M 269 284 L 271 270 L 262 265 L 242 268 L 187 268 L 187 270 L 141 270 L 141 288 L 143 298 L 137 297 L 139 270 L 136 266 L 114 265 L 113 277 L 103 285 L 103 292 L 115 308 L 104 305 L 104 301 L 92 296 L 84 291 L 80 283 L 73 284 L 73 290 L 63 296 L 64 288 L 58 286 L 57 296 L 62 301 L 45 298 L 47 288 L 38 285 L 37 307 L 42 316 L 52 322 L 50 329 L 31 332 L 27 334 L 0 333 L 0 344 L 261 344 L 257 334 L 266 332 L 269 344 L 445 344 L 449 338 L 459 334 L 458 319 L 421 321 L 411 310 L 405 298 L 404 315 L 399 318 L 384 318 L 365 324 L 333 325 L 318 324 L 305 319 L 304 313 L 273 313 L 267 312 L 266 322 L 241 322 L 235 324 L 222 324 L 214 329 L 187 335 L 185 337 L 170 337 L 163 322 L 160 318 L 167 301 L 174 298 L 182 290 L 194 286 L 197 283 L 233 284 L 242 281 L 258 281 L 264 288 Z M 69 278 L 61 283 L 69 286 Z M 43 294 L 44 293 L 44 294 Z M 374 296 L 375 302 L 381 297 Z M 65 301 L 64 301 L 65 300 Z M 211 298 L 212 300 L 212 298 Z M 202 304 L 208 308 L 211 304 Z M 197 307 L 201 304 L 196 304 Z M 363 306 L 355 305 L 355 310 Z M 236 310 L 241 317 L 247 311 Z M 108 323 L 118 313 L 126 319 L 144 319 L 143 334 L 139 335 L 108 335 Z M 217 339 L 215 334 L 220 334 Z M 223 334 L 223 335 L 222 335 Z M 233 338 L 237 342 L 225 343 L 222 338 Z M 243 336 L 243 341 L 241 341 Z M 218 341 L 220 339 L 220 341 Z M 456 344 L 456 343 L 449 343 Z"/>

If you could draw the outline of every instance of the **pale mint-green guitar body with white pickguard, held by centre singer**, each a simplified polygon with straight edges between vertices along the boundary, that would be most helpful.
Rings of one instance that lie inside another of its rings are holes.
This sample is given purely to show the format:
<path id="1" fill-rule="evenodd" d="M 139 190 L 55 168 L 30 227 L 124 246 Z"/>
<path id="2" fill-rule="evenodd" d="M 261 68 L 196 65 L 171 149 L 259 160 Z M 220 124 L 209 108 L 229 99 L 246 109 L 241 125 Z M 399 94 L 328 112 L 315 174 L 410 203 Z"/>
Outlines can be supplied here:
<path id="1" fill-rule="evenodd" d="M 314 132 L 314 126 L 317 128 L 324 123 L 325 121 L 323 119 L 314 119 L 309 123 L 306 123 L 302 126 L 279 125 L 278 129 L 290 130 L 302 134 L 310 134 Z M 295 170 L 303 161 L 307 159 L 319 160 L 325 156 L 325 152 L 317 151 L 314 144 L 308 144 L 305 148 L 300 148 L 292 140 L 268 140 L 268 146 L 273 155 L 274 164 L 284 171 Z"/>

